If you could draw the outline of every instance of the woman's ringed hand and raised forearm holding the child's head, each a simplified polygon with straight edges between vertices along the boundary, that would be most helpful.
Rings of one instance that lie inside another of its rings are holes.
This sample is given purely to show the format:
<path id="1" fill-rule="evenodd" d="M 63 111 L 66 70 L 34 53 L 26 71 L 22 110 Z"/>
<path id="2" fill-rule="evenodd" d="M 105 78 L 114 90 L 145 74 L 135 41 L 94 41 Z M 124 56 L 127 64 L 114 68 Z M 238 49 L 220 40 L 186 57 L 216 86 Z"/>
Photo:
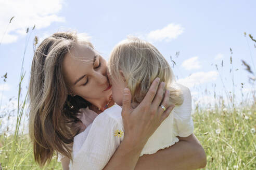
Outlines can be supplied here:
<path id="1" fill-rule="evenodd" d="M 144 100 L 135 108 L 131 107 L 131 92 L 124 89 L 122 118 L 124 124 L 124 139 L 116 152 L 112 155 L 104 170 L 134 169 L 140 152 L 148 138 L 157 130 L 158 126 L 167 118 L 174 105 L 169 101 L 168 90 L 165 91 L 163 102 L 164 82 L 156 78 L 147 92 Z M 159 105 L 163 105 L 164 111 Z"/>

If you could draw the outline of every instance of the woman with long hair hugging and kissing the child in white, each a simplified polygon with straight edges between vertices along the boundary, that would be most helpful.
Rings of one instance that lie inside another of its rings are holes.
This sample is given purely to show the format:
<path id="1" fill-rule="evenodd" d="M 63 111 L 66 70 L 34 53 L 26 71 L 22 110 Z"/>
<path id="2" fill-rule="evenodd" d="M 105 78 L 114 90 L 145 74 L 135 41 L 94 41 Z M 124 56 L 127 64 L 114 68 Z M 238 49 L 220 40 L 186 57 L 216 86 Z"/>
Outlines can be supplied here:
<path id="1" fill-rule="evenodd" d="M 139 157 L 148 138 L 173 109 L 169 97 L 161 102 L 163 83 L 159 88 L 158 84 L 157 80 L 152 83 L 143 102 L 134 110 L 130 107 L 130 92 L 123 93 L 124 140 L 104 169 L 193 169 L 206 165 L 205 153 L 194 134 L 179 138 L 180 142 L 170 148 Z M 37 48 L 29 95 L 30 136 L 35 161 L 41 166 L 55 152 L 72 159 L 69 144 L 85 128 L 79 119 L 86 115 L 81 108 L 88 107 L 100 114 L 113 105 L 106 61 L 91 43 L 74 33 L 56 33 Z"/>

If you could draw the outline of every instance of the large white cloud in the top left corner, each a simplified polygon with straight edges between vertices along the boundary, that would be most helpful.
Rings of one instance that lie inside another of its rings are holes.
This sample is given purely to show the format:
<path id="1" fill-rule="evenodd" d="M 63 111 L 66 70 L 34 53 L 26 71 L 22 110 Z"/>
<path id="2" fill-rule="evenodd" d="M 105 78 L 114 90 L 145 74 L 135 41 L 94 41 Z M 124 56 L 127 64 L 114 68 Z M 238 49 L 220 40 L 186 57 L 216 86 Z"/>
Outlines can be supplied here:
<path id="1" fill-rule="evenodd" d="M 0 0 L 0 40 L 4 36 L 3 44 L 13 43 L 25 35 L 27 27 L 32 29 L 35 25 L 36 29 L 42 29 L 53 22 L 65 21 L 57 16 L 61 8 L 62 0 Z M 11 17 L 15 18 L 7 27 Z"/>

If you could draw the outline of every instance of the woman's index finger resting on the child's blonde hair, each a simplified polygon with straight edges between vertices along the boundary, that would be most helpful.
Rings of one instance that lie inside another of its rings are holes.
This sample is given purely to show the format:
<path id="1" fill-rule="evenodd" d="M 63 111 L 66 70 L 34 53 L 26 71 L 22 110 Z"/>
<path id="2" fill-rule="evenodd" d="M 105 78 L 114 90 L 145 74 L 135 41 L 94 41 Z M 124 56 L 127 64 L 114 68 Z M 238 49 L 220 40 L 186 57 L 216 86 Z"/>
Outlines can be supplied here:
<path id="1" fill-rule="evenodd" d="M 153 98 L 156 95 L 156 92 L 158 90 L 158 84 L 159 84 L 160 78 L 155 78 L 155 80 L 152 82 L 146 96 L 144 97 L 143 101 L 140 102 L 139 105 L 145 105 L 145 106 L 150 106 L 151 102 L 153 101 Z"/>

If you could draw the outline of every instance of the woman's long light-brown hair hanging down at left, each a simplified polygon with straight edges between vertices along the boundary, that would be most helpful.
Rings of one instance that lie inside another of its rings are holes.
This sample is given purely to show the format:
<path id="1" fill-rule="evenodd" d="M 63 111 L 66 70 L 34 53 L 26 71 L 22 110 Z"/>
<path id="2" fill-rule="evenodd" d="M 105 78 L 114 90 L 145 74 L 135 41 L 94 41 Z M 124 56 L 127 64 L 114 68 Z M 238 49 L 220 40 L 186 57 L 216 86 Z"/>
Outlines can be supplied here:
<path id="1" fill-rule="evenodd" d="M 80 96 L 68 95 L 70 90 L 62 74 L 62 61 L 77 42 L 93 48 L 74 32 L 58 32 L 44 39 L 34 53 L 29 83 L 29 133 L 34 158 L 40 166 L 49 162 L 56 151 L 72 159 L 68 144 L 79 132 L 79 127 L 74 126 L 80 122 L 76 116 L 80 108 L 89 105 Z"/>

